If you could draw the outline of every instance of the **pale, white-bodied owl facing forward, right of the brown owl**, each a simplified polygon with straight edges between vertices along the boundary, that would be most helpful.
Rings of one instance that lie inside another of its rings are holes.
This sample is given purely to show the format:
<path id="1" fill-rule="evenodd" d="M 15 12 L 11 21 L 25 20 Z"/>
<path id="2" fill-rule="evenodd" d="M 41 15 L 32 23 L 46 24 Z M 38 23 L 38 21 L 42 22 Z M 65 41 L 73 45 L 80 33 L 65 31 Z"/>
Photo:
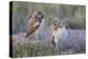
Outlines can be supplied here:
<path id="1" fill-rule="evenodd" d="M 58 47 L 58 40 L 67 36 L 67 31 L 65 25 L 58 19 L 54 19 L 53 22 L 53 45 Z"/>

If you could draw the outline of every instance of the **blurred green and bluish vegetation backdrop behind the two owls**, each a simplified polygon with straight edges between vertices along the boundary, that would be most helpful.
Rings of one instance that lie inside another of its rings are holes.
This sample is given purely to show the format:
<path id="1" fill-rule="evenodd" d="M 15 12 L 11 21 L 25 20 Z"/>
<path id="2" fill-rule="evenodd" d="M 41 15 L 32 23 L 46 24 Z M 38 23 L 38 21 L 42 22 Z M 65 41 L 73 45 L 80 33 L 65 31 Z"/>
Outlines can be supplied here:
<path id="1" fill-rule="evenodd" d="M 30 15 L 41 10 L 44 13 L 45 28 L 51 26 L 50 17 L 58 17 L 65 21 L 65 25 L 73 30 L 86 28 L 86 7 L 72 4 L 52 4 L 14 1 L 12 8 L 12 33 L 26 31 L 26 22 Z"/>

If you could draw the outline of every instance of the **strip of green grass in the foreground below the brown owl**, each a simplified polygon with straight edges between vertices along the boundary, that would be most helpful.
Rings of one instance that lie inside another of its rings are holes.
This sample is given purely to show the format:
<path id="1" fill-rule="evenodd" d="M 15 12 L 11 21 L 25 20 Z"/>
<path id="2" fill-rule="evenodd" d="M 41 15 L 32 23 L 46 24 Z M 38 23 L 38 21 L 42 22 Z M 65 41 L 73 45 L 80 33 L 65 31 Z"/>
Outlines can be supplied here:
<path id="1" fill-rule="evenodd" d="M 58 54 L 61 51 L 58 50 Z M 13 57 L 36 57 L 36 56 L 53 56 L 57 55 L 57 50 L 52 46 L 40 46 L 29 44 L 18 44 L 13 46 Z"/>

